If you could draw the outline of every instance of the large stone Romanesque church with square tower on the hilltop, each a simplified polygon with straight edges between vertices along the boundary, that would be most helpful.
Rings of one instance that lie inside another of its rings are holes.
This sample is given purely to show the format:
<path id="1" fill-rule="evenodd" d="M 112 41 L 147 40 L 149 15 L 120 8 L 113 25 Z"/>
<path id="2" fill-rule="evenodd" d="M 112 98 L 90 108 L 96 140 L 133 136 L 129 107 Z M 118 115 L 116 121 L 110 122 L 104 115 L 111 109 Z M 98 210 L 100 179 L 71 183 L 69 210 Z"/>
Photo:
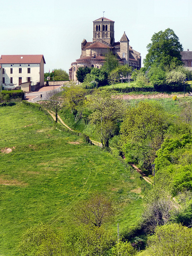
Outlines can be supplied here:
<path id="1" fill-rule="evenodd" d="M 105 55 L 111 51 L 117 57 L 120 65 L 128 64 L 133 69 L 141 68 L 140 53 L 129 45 L 125 32 L 120 42 L 114 39 L 114 21 L 101 17 L 93 21 L 93 41 L 84 39 L 81 43 L 81 56 L 72 62 L 69 69 L 69 79 L 77 81 L 76 71 L 80 67 L 101 68 Z"/>

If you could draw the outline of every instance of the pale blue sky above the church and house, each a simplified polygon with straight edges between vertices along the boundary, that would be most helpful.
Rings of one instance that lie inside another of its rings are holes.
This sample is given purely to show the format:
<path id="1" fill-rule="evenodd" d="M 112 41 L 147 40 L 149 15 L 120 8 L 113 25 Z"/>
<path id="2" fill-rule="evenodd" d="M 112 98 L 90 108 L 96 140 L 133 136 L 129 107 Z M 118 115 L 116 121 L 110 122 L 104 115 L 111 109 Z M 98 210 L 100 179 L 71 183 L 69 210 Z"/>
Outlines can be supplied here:
<path id="1" fill-rule="evenodd" d="M 125 31 L 142 60 L 154 32 L 166 28 L 184 50 L 192 50 L 192 0 L 9 0 L 0 3 L 0 55 L 44 54 L 45 72 L 68 72 L 80 57 L 82 40 L 92 41 L 92 21 L 103 11 L 115 21 L 115 41 Z"/>

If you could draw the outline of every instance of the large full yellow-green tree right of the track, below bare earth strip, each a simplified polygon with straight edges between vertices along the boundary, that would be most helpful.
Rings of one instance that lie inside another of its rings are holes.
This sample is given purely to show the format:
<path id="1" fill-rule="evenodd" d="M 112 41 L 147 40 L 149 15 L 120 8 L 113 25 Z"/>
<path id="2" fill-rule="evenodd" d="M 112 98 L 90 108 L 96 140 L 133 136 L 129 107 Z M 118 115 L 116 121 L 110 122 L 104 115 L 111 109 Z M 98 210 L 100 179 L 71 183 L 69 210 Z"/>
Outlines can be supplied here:
<path id="1" fill-rule="evenodd" d="M 128 108 L 120 128 L 126 160 L 150 170 L 166 128 L 166 114 L 159 104 L 140 102 L 136 107 Z"/>

